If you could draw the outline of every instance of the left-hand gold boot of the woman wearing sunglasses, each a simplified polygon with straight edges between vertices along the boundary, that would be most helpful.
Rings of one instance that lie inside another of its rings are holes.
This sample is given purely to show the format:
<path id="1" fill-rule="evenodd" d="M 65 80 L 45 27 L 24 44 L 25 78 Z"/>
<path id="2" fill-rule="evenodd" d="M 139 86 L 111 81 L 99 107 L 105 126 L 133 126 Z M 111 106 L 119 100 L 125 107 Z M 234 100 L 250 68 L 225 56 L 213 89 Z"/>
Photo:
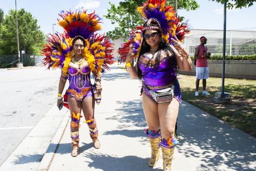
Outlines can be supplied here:
<path id="1" fill-rule="evenodd" d="M 157 163 L 157 160 L 159 159 L 159 142 L 161 137 L 157 137 L 154 139 L 148 137 L 148 139 L 150 139 L 151 144 L 151 158 L 150 160 L 148 160 L 148 165 L 150 167 L 154 167 Z"/>

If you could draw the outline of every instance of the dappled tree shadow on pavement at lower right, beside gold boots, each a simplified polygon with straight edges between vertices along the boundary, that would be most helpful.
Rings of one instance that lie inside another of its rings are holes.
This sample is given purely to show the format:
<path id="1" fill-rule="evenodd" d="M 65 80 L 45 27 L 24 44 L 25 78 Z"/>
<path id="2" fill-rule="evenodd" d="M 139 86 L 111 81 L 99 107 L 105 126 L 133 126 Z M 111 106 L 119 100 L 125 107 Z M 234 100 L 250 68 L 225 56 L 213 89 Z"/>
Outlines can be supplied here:
<path id="1" fill-rule="evenodd" d="M 252 166 L 256 160 L 255 146 L 251 146 L 251 142 L 247 144 L 245 137 L 241 137 L 244 134 L 235 133 L 239 130 L 209 118 L 208 114 L 199 115 L 191 108 L 183 108 L 182 113 L 178 130 L 183 138 L 177 148 L 185 157 L 201 158 L 203 164 L 197 170 L 219 170 L 222 165 L 233 170 L 255 170 L 255 165 Z M 200 150 L 193 150 L 195 146 Z"/>

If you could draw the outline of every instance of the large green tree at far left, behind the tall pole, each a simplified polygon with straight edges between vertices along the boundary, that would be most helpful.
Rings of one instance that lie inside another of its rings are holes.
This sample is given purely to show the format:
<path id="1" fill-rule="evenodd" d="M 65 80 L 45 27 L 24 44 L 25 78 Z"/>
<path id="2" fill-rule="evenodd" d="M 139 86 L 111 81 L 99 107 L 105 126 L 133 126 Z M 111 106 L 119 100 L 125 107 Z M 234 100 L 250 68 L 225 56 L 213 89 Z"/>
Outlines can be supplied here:
<path id="1" fill-rule="evenodd" d="M 19 47 L 26 54 L 38 54 L 38 47 L 42 47 L 45 35 L 39 29 L 37 20 L 25 9 L 17 11 Z M 0 49 L 2 54 L 17 54 L 17 31 L 15 10 L 10 10 L 1 26 Z"/>

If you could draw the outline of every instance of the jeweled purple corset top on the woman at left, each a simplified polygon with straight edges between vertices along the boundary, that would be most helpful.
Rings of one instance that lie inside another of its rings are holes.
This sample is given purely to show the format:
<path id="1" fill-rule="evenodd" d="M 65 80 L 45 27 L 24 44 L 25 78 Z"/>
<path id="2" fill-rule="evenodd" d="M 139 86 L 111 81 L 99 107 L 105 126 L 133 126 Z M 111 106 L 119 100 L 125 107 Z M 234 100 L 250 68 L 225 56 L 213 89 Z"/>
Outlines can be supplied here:
<path id="1" fill-rule="evenodd" d="M 69 63 L 69 89 L 80 92 L 84 87 L 90 87 L 90 68 L 85 59 L 75 62 L 74 58 Z"/>

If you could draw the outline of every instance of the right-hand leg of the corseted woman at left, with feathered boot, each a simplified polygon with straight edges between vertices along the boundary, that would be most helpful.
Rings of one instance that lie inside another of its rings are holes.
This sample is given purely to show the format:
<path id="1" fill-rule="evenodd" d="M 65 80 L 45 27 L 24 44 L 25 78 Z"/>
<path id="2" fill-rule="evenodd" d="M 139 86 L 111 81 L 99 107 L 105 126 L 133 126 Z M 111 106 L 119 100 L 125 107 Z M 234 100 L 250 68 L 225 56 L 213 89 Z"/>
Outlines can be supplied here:
<path id="1" fill-rule="evenodd" d="M 99 149 L 100 143 L 98 140 L 98 129 L 97 129 L 96 121 L 94 119 L 94 107 L 95 107 L 94 97 L 88 96 L 82 100 L 82 111 L 84 114 L 84 118 L 86 118 L 86 122 L 90 130 L 90 136 L 93 140 L 93 146 L 95 149 Z"/>

